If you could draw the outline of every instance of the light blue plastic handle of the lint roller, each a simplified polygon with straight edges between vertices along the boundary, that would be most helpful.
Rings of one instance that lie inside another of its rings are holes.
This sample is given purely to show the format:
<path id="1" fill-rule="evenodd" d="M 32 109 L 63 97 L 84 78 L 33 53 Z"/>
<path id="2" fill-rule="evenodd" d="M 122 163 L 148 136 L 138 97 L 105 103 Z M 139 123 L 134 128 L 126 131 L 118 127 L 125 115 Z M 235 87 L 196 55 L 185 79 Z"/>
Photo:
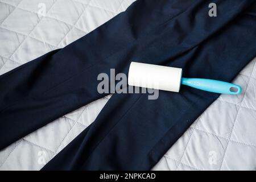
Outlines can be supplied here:
<path id="1" fill-rule="evenodd" d="M 240 94 L 242 92 L 242 88 L 239 85 L 204 78 L 182 78 L 181 84 L 214 93 Z"/>

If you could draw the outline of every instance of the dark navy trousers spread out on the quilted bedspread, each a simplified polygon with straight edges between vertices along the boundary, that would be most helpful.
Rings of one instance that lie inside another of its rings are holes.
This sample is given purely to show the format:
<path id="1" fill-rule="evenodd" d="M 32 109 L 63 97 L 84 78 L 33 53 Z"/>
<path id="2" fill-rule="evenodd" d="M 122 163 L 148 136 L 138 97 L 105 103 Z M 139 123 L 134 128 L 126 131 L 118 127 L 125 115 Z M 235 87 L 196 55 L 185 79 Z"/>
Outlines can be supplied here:
<path id="1" fill-rule="evenodd" d="M 208 15 L 216 3 L 217 16 Z M 254 0 L 138 0 L 63 49 L 0 76 L 0 149 L 106 94 L 100 73 L 131 61 L 183 68 L 184 77 L 232 81 L 256 56 Z M 43 169 L 151 169 L 218 94 L 115 93 L 96 121 Z"/>

